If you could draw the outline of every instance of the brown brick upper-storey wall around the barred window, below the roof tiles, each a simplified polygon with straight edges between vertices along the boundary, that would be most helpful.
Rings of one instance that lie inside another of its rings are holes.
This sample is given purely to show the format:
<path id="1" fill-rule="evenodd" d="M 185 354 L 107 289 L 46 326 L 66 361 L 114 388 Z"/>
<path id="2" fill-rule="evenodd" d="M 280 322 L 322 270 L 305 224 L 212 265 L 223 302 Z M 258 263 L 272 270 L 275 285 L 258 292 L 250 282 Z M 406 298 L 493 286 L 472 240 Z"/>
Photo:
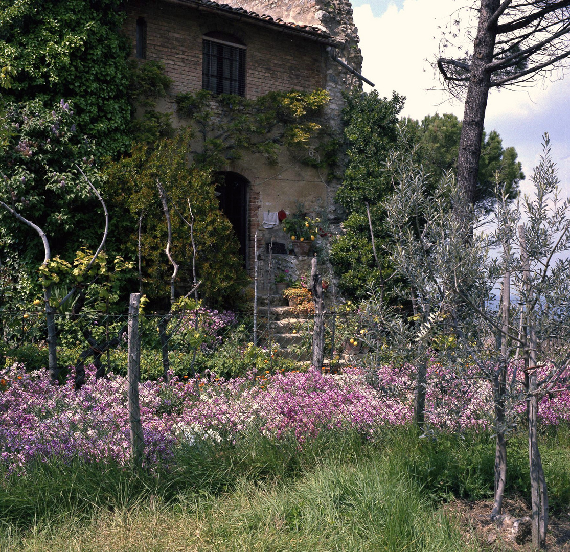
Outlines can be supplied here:
<path id="1" fill-rule="evenodd" d="M 248 22 L 234 22 L 190 6 L 160 0 L 125 2 L 124 30 L 134 55 L 136 20 L 146 21 L 146 59 L 164 63 L 174 80 L 170 92 L 193 92 L 202 87 L 202 35 L 229 32 L 247 46 L 246 97 L 291 88 L 310 91 L 325 86 L 324 47 Z"/>

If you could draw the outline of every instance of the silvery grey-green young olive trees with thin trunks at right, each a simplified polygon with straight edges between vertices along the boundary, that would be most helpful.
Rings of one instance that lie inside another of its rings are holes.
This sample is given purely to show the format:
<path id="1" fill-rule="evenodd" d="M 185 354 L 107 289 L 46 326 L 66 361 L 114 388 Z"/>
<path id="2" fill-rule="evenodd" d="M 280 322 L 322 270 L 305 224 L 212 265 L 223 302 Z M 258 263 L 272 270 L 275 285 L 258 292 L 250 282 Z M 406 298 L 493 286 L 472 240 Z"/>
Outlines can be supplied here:
<path id="1" fill-rule="evenodd" d="M 373 350 L 397 354 L 414 371 L 415 418 L 425 432 L 428 420 L 443 412 L 455 415 L 458 427 L 469 426 L 470 412 L 449 400 L 449 391 L 459 386 L 467 396 L 490 386 L 494 517 L 502 508 L 508 433 L 526 424 L 538 548 L 548 525 L 538 410 L 545 397 L 567 389 L 570 375 L 570 202 L 560 198 L 548 134 L 531 177 L 534 193 L 511 202 L 498 181 L 494 211 L 489 216 L 472 211 L 469 230 L 453 210 L 461 201 L 453 177 L 445 175 L 428 195 L 414 153 L 401 149 L 386 162 L 395 190 L 386 203 L 391 260 L 394 276 L 402 280 L 393 293 L 411 306 L 386 306 L 385 282 L 376 283 L 367 305 L 376 328 L 369 342 Z M 441 412 L 425 410 L 428 374 L 441 379 Z"/>

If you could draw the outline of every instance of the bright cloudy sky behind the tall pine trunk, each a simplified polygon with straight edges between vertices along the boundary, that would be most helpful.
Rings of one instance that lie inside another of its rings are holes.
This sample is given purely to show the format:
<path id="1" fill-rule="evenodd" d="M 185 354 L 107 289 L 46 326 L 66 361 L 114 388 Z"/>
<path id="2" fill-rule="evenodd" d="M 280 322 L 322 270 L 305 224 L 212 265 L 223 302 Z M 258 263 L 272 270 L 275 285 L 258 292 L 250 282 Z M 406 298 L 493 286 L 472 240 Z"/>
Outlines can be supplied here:
<path id="1" fill-rule="evenodd" d="M 392 91 L 406 96 L 402 115 L 454 113 L 463 118 L 463 105 L 449 101 L 430 66 L 437 56 L 442 31 L 453 19 L 466 21 L 465 0 L 352 0 L 364 56 L 363 74 L 381 96 Z M 541 136 L 550 134 L 553 158 L 559 166 L 564 194 L 570 196 L 570 75 L 557 75 L 525 91 L 491 92 L 485 129 L 497 130 L 503 146 L 515 146 L 530 186 L 532 168 L 541 153 Z M 439 90 L 431 88 L 440 88 Z M 370 87 L 365 85 L 365 89 Z"/>

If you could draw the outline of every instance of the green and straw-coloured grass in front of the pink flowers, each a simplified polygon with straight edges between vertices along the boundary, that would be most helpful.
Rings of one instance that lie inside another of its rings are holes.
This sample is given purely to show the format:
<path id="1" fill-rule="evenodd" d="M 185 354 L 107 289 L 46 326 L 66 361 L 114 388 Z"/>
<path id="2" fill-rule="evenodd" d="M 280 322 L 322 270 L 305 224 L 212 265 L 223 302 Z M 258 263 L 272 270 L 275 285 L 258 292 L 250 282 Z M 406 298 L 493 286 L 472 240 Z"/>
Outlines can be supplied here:
<path id="1" fill-rule="evenodd" d="M 541 443 L 554 509 L 570 504 L 570 431 Z M 524 435 L 510 441 L 508 492 L 526 496 Z M 492 494 L 490 435 L 376 443 L 321 434 L 299 449 L 258 435 L 181 451 L 155 475 L 55 461 L 2 477 L 3 551 L 477 550 L 442 510 Z"/>

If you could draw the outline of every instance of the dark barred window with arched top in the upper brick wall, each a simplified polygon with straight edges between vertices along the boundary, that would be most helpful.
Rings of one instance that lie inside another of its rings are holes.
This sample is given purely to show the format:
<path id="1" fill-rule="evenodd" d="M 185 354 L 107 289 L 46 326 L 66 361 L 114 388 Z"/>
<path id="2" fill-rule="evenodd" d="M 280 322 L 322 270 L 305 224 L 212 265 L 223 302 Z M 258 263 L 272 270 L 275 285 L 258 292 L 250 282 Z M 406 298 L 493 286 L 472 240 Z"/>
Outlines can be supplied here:
<path id="1" fill-rule="evenodd" d="M 203 35 L 202 88 L 246 95 L 246 46 L 235 36 L 217 31 Z"/>

